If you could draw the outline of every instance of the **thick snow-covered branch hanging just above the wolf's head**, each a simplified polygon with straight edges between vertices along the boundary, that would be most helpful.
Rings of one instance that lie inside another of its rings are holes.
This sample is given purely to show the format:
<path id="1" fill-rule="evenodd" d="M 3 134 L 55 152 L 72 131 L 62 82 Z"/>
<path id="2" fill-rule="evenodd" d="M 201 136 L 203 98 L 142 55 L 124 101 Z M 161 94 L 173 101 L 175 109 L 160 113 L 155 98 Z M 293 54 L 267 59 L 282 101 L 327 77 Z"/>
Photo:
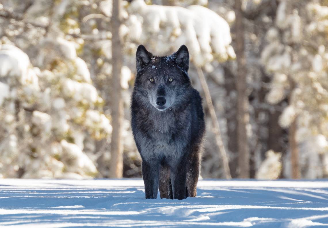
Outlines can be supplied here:
<path id="1" fill-rule="evenodd" d="M 134 0 L 127 12 L 129 18 L 121 28 L 122 35 L 127 41 L 147 44 L 157 55 L 166 55 L 185 44 L 197 66 L 236 57 L 228 23 L 205 7 L 147 5 L 143 0 Z"/>

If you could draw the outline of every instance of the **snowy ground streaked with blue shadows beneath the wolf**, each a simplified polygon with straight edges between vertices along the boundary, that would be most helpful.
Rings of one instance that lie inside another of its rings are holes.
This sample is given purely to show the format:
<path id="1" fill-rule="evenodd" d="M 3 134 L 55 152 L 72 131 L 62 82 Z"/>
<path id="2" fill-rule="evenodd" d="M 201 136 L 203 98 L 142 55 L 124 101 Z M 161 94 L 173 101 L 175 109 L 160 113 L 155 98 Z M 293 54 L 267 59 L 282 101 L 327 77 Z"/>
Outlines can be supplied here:
<path id="1" fill-rule="evenodd" d="M 141 179 L 0 179 L 0 227 L 328 227 L 328 181 L 202 180 L 145 199 Z"/>

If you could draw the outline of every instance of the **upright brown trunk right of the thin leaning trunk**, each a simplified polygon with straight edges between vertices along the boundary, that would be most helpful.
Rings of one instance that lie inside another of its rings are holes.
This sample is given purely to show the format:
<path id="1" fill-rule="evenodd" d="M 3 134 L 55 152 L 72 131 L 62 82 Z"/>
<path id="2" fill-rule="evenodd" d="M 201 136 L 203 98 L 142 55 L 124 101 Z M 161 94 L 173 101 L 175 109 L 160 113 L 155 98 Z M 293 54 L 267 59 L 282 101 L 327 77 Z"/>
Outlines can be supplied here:
<path id="1" fill-rule="evenodd" d="M 246 125 L 249 122 L 248 98 L 246 94 L 246 59 L 244 54 L 244 25 L 241 11 L 241 1 L 235 1 L 236 11 L 236 56 L 237 56 L 237 145 L 239 177 L 249 178 L 249 148 Z"/>

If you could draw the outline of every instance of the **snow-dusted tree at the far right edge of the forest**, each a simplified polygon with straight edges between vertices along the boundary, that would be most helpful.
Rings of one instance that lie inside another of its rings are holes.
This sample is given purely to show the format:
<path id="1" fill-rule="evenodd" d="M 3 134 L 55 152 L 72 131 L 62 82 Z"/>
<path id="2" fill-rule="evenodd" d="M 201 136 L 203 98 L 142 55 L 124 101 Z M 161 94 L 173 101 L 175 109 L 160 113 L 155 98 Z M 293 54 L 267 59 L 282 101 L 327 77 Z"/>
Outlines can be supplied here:
<path id="1" fill-rule="evenodd" d="M 328 174 L 327 18 L 327 1 L 281 0 L 275 25 L 266 35 L 261 60 L 272 74 L 266 100 L 274 104 L 288 99 L 279 118 L 282 127 L 289 127 L 286 177 Z"/>

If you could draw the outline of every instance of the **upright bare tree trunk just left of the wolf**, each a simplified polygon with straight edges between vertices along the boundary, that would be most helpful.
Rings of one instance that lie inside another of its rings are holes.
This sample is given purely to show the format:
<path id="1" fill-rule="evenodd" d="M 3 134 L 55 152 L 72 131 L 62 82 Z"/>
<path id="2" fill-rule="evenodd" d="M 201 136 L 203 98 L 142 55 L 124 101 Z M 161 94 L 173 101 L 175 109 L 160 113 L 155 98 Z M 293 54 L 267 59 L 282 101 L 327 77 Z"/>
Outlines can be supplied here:
<path id="1" fill-rule="evenodd" d="M 123 121 L 123 100 L 121 94 L 121 68 L 122 68 L 122 44 L 119 37 L 120 0 L 113 0 L 112 13 L 112 141 L 111 164 L 109 176 L 119 178 L 123 175 L 123 146 L 121 142 Z"/>

